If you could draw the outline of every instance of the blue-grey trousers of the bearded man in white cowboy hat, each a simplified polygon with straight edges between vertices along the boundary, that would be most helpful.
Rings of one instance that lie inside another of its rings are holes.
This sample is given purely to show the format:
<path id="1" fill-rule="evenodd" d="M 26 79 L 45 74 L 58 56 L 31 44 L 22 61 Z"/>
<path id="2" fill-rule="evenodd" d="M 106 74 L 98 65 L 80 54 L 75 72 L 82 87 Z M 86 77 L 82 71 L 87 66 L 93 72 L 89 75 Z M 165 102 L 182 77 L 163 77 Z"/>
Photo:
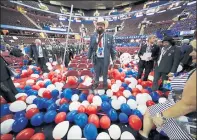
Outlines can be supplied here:
<path id="1" fill-rule="evenodd" d="M 99 77 L 103 76 L 103 84 L 107 85 L 108 67 L 104 66 L 104 58 L 96 58 L 94 69 L 96 73 L 95 83 L 99 83 Z"/>

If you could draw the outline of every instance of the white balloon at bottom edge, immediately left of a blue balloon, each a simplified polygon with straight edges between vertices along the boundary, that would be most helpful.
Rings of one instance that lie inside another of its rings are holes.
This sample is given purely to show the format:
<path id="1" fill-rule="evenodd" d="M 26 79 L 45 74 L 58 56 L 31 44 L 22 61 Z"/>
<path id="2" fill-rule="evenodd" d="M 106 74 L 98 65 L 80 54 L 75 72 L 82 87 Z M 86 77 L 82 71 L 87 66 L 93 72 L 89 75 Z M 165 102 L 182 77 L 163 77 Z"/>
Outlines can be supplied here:
<path id="1" fill-rule="evenodd" d="M 81 139 L 82 138 L 82 130 L 78 125 L 73 125 L 68 131 L 67 139 Z"/>

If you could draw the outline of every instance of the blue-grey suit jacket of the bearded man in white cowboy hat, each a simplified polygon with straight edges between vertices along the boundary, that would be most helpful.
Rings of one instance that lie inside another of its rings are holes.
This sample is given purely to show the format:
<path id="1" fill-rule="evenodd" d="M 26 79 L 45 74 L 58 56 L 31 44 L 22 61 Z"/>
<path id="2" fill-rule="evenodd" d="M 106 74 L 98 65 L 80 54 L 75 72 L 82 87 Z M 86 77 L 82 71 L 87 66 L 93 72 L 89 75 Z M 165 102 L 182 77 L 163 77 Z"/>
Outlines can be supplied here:
<path id="1" fill-rule="evenodd" d="M 95 33 L 90 38 L 90 45 L 88 50 L 88 59 L 91 59 L 95 53 L 95 48 L 98 48 L 97 45 L 98 34 Z M 115 60 L 116 50 L 114 46 L 114 39 L 112 35 L 104 33 L 103 35 L 103 46 L 104 46 L 104 66 L 109 66 L 110 56 L 112 60 Z M 94 63 L 94 62 L 93 62 Z"/>

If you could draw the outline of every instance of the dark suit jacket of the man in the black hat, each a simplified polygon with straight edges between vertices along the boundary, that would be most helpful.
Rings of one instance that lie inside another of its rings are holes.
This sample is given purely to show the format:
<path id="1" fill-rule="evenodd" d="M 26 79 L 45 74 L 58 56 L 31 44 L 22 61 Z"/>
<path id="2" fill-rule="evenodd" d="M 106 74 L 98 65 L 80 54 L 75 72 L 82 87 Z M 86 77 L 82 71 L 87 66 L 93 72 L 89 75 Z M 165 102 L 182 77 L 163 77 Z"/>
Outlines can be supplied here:
<path id="1" fill-rule="evenodd" d="M 163 73 L 176 73 L 178 65 L 180 63 L 181 51 L 180 48 L 172 46 L 162 57 L 157 71 Z"/>

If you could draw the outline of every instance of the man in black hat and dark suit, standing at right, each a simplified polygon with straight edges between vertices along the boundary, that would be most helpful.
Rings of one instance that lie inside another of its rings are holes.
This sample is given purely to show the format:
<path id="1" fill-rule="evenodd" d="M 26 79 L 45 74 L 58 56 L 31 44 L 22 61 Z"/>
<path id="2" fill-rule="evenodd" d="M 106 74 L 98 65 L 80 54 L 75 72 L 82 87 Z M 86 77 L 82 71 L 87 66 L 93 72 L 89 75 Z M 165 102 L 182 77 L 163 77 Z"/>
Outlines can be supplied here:
<path id="1" fill-rule="evenodd" d="M 163 48 L 160 51 L 160 56 L 154 71 L 154 80 L 152 90 L 159 89 L 158 81 L 162 77 L 162 81 L 168 80 L 177 71 L 180 63 L 181 51 L 175 46 L 172 37 L 164 37 Z"/>

